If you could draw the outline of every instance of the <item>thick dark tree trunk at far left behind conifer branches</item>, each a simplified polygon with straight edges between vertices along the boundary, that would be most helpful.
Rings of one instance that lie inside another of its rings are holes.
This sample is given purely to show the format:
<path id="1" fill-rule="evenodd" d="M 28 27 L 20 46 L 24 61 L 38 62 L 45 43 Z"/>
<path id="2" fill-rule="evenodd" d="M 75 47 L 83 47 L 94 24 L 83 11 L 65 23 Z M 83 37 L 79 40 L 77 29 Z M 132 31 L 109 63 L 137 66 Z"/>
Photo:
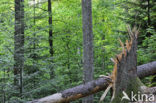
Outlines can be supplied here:
<path id="1" fill-rule="evenodd" d="M 24 0 L 15 0 L 14 34 L 14 85 L 22 96 L 22 71 L 24 68 Z M 17 95 L 19 96 L 19 95 Z"/>

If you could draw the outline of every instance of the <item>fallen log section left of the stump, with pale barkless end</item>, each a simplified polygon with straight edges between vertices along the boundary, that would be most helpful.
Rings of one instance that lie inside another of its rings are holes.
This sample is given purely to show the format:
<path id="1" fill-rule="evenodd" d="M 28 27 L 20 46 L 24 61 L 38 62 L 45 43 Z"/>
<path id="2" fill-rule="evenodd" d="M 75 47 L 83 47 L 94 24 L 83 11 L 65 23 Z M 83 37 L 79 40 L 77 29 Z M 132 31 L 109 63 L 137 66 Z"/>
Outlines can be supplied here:
<path id="1" fill-rule="evenodd" d="M 64 90 L 60 93 L 56 93 L 28 103 L 68 103 L 69 101 L 73 101 L 104 90 L 108 86 L 109 82 L 111 82 L 111 79 L 98 78 L 97 80 L 93 80 L 86 84 L 81 84 L 79 86 Z"/>

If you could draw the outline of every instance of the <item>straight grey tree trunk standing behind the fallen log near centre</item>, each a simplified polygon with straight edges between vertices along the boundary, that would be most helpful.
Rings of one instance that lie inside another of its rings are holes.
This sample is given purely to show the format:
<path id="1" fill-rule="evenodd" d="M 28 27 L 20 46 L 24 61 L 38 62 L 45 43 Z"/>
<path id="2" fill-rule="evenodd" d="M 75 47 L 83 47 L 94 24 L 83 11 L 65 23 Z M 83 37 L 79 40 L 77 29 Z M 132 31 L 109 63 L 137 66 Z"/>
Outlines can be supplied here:
<path id="1" fill-rule="evenodd" d="M 84 82 L 93 80 L 93 31 L 92 1 L 82 0 L 83 19 L 83 68 Z M 93 95 L 83 99 L 83 103 L 93 103 Z"/>

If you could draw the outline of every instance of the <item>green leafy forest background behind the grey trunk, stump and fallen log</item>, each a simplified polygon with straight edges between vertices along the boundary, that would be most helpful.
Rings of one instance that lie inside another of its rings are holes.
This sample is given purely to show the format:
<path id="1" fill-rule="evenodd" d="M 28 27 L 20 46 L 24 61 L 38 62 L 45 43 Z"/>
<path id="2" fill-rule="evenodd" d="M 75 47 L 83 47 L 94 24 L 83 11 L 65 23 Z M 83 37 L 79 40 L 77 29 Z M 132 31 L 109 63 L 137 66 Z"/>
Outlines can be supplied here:
<path id="1" fill-rule="evenodd" d="M 15 36 L 18 1 L 24 8 L 19 9 L 24 33 Z M 94 78 L 112 71 L 110 58 L 121 51 L 118 38 L 128 38 L 127 25 L 140 27 L 138 65 L 156 60 L 155 4 L 155 0 L 92 0 Z M 156 86 L 156 76 L 142 82 Z M 0 0 L 0 103 L 23 103 L 81 83 L 81 0 Z M 101 94 L 94 95 L 95 103 Z"/>

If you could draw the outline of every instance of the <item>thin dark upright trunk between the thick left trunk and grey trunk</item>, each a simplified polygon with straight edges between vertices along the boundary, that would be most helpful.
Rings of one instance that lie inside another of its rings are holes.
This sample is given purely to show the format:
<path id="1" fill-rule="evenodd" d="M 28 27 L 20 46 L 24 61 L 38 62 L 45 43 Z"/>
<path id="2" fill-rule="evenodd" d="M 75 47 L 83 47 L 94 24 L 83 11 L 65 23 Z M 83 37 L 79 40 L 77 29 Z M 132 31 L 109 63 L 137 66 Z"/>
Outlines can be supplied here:
<path id="1" fill-rule="evenodd" d="M 53 50 L 53 31 L 52 31 L 52 7 L 51 7 L 51 0 L 48 0 L 48 14 L 49 14 L 49 46 L 50 50 L 49 53 L 51 57 L 54 55 Z M 52 58 L 53 59 L 53 58 Z M 53 60 L 51 60 L 53 62 Z M 54 77 L 54 70 L 53 65 L 50 67 L 50 78 L 52 79 Z"/>

